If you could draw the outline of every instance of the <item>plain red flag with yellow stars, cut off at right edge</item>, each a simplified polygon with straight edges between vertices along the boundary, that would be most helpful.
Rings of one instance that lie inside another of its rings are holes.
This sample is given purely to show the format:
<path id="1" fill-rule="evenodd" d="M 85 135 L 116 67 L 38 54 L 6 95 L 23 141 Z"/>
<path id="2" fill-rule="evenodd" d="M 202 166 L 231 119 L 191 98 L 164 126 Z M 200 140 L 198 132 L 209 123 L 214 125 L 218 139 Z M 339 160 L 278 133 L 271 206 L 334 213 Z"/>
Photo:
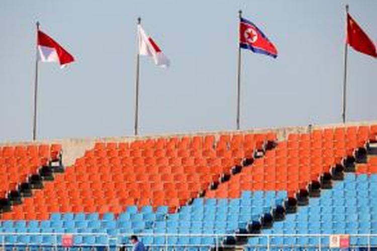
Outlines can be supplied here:
<path id="1" fill-rule="evenodd" d="M 356 51 L 377 57 L 373 41 L 366 35 L 356 21 L 347 13 L 347 43 Z"/>

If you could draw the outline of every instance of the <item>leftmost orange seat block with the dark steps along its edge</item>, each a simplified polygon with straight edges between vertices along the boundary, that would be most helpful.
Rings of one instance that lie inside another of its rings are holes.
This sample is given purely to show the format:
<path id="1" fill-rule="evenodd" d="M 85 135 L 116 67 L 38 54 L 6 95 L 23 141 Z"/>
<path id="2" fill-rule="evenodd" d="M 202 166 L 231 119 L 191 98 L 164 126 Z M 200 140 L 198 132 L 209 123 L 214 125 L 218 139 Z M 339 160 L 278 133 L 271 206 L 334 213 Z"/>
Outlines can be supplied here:
<path id="1" fill-rule="evenodd" d="M 10 212 L 33 189 L 62 172 L 61 145 L 17 145 L 0 147 L 0 215 Z"/>

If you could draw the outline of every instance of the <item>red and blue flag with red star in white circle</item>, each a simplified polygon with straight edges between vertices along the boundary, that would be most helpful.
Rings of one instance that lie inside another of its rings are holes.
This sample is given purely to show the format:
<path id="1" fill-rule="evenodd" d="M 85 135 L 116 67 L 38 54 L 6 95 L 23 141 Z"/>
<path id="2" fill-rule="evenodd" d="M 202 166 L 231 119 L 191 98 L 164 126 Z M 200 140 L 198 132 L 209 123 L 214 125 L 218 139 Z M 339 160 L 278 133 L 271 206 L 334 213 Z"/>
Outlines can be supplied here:
<path id="1" fill-rule="evenodd" d="M 255 53 L 265 54 L 274 58 L 277 57 L 275 46 L 252 22 L 241 18 L 239 32 L 241 48 L 249 49 Z"/>

